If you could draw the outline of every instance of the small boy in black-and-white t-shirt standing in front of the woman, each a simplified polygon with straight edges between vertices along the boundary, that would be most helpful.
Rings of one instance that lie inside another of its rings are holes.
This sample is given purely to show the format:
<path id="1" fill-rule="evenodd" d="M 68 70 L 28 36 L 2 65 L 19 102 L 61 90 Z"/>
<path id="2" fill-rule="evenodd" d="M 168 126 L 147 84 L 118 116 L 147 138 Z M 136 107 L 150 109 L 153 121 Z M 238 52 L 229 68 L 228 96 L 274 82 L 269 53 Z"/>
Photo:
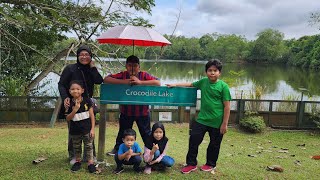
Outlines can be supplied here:
<path id="1" fill-rule="evenodd" d="M 82 97 L 83 85 L 78 81 L 71 81 L 69 92 L 73 97 L 70 101 L 70 108 L 66 109 L 66 119 L 70 121 L 70 135 L 75 151 L 76 163 L 71 167 L 72 172 L 81 168 L 82 142 L 86 149 L 88 170 L 96 172 L 93 164 L 93 139 L 95 118 L 90 98 Z"/>

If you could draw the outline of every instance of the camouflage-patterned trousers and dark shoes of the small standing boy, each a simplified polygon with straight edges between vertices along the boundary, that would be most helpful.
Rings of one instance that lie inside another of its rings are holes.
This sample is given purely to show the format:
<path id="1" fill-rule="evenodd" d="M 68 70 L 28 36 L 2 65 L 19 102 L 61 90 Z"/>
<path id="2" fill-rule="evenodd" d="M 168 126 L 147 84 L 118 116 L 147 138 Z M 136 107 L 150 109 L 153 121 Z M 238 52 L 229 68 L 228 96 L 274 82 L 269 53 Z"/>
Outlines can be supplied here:
<path id="1" fill-rule="evenodd" d="M 86 157 L 88 160 L 88 170 L 90 173 L 96 172 L 96 168 L 93 163 L 93 138 L 90 137 L 90 133 L 85 135 L 71 135 L 73 148 L 76 157 L 76 163 L 71 167 L 71 171 L 76 172 L 81 168 L 81 154 L 82 154 L 82 141 L 84 148 L 86 149 Z"/>

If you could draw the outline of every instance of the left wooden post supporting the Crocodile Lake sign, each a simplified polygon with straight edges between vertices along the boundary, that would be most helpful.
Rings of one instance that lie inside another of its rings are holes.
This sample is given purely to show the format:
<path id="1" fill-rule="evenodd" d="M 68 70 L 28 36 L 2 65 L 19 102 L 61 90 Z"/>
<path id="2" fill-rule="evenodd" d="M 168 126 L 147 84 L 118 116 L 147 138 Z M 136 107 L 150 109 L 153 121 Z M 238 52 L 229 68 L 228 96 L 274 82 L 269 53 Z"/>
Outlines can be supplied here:
<path id="1" fill-rule="evenodd" d="M 103 162 L 105 141 L 106 141 L 106 122 L 107 122 L 107 105 L 100 104 L 100 120 L 99 120 L 99 144 L 97 160 Z"/>

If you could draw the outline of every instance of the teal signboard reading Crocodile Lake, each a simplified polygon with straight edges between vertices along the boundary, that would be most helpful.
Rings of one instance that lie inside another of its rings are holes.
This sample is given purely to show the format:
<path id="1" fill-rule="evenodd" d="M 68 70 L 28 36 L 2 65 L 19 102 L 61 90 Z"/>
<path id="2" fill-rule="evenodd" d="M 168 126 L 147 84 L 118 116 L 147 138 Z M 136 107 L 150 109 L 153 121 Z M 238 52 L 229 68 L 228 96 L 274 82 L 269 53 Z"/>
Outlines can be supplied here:
<path id="1" fill-rule="evenodd" d="M 192 87 L 102 84 L 101 104 L 196 106 L 197 89 Z"/>

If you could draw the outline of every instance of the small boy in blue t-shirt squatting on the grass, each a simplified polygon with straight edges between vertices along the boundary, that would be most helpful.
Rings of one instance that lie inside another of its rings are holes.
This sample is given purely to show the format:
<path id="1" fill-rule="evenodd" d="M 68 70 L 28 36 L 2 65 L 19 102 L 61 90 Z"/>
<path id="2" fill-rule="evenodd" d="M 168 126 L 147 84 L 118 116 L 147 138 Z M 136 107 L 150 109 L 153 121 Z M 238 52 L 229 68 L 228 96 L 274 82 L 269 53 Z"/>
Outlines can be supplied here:
<path id="1" fill-rule="evenodd" d="M 115 174 L 120 174 L 125 165 L 133 165 L 133 170 L 137 173 L 141 172 L 140 163 L 142 161 L 141 148 L 136 142 L 136 131 L 133 129 L 126 129 L 123 132 L 123 143 L 119 146 L 118 152 L 114 156 L 117 163 L 117 168 L 113 171 Z"/>

